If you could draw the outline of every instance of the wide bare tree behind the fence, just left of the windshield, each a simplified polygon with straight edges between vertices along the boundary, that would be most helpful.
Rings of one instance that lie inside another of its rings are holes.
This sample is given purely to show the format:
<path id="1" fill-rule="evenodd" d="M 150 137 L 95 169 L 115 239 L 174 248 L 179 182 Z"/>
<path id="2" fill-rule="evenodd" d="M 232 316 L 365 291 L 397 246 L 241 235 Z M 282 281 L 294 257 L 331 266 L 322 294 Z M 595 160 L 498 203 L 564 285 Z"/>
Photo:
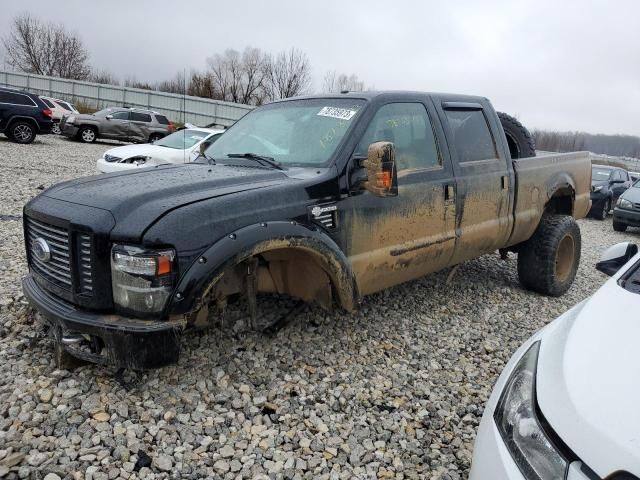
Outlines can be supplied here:
<path id="1" fill-rule="evenodd" d="M 267 56 L 258 48 L 247 47 L 242 53 L 225 50 L 208 59 L 214 89 L 222 100 L 260 105 L 265 99 L 265 64 Z"/>

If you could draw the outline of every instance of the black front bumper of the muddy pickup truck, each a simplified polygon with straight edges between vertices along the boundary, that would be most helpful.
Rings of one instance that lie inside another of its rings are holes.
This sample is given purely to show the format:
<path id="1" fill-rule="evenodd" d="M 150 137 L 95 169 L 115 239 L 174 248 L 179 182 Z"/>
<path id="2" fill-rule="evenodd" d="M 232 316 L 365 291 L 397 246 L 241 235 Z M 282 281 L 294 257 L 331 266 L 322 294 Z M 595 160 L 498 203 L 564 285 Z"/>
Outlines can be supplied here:
<path id="1" fill-rule="evenodd" d="M 74 357 L 118 368 L 143 370 L 175 363 L 186 321 L 140 320 L 78 309 L 44 290 L 29 274 L 22 289 L 31 306 L 53 328 L 56 342 Z M 81 344 L 62 344 L 62 337 L 83 337 Z"/>

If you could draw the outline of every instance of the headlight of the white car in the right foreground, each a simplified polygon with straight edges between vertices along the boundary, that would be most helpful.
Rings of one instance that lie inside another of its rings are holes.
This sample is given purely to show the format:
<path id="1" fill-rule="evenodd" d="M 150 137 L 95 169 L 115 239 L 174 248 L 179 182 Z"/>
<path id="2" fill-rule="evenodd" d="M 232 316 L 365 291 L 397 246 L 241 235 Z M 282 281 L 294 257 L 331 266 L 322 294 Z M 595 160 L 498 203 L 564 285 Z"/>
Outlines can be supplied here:
<path id="1" fill-rule="evenodd" d="M 502 439 L 527 480 L 565 478 L 569 462 L 536 416 L 536 367 L 540 342 L 522 356 L 500 396 L 494 419 Z"/>

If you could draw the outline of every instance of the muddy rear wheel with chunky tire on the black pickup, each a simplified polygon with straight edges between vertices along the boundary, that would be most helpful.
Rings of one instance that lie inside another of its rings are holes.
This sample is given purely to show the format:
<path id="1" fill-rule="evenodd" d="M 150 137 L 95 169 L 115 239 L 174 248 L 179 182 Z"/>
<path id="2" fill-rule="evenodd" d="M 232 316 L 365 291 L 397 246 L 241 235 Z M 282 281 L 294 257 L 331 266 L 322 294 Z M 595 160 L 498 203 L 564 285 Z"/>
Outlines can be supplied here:
<path id="1" fill-rule="evenodd" d="M 562 295 L 576 277 L 581 248 L 580 229 L 573 217 L 545 215 L 518 253 L 520 283 L 544 295 Z"/>

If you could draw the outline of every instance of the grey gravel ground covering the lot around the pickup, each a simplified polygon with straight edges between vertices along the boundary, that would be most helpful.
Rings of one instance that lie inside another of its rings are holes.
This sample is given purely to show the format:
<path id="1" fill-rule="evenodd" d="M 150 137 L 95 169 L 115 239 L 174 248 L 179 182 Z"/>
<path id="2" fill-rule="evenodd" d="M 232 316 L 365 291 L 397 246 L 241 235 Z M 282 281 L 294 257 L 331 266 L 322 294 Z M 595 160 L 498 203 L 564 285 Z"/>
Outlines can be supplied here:
<path id="1" fill-rule="evenodd" d="M 522 290 L 515 256 L 487 255 L 449 284 L 441 272 L 355 314 L 304 307 L 271 335 L 187 336 L 179 364 L 140 377 L 57 370 L 20 292 L 21 209 L 43 186 L 92 174 L 111 145 L 0 138 L 0 477 L 466 478 L 509 356 L 598 288 L 605 246 L 637 239 L 610 219 L 580 221 L 582 264 L 562 298 Z"/>

